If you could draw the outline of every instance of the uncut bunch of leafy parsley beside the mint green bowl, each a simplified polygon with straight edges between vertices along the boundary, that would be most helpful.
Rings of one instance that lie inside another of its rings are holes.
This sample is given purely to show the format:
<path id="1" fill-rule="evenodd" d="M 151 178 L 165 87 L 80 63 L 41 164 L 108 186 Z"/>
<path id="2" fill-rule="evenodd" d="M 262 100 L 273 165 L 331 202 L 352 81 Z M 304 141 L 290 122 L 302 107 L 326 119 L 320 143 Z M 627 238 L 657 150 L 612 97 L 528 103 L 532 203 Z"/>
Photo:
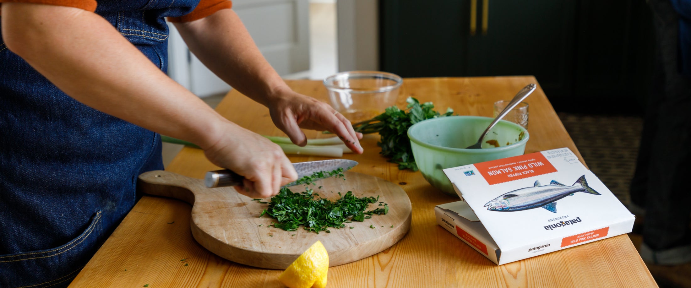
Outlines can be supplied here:
<path id="1" fill-rule="evenodd" d="M 388 162 L 398 164 L 398 169 L 417 171 L 417 164 L 410 148 L 408 128 L 413 124 L 431 118 L 446 117 L 453 114 L 453 109 L 447 108 L 446 113 L 434 111 L 434 104 L 426 102 L 420 104 L 417 99 L 408 97 L 406 111 L 396 106 L 386 108 L 386 112 L 372 119 L 352 125 L 355 131 L 361 133 L 379 132 L 381 136 L 377 146 L 381 147 L 379 154 L 389 157 Z"/>

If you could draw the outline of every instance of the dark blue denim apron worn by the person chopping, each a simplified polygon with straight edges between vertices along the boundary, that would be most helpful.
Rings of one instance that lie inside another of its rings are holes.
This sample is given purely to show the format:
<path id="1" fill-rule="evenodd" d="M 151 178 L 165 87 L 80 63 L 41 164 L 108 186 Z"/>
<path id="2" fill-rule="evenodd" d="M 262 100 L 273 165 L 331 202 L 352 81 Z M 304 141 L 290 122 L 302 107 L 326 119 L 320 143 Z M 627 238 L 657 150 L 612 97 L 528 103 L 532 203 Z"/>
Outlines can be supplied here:
<path id="1" fill-rule="evenodd" d="M 198 1 L 95 12 L 165 72 L 163 17 Z M 162 168 L 158 134 L 75 101 L 0 44 L 0 287 L 69 285 L 138 200 L 137 176 Z"/>

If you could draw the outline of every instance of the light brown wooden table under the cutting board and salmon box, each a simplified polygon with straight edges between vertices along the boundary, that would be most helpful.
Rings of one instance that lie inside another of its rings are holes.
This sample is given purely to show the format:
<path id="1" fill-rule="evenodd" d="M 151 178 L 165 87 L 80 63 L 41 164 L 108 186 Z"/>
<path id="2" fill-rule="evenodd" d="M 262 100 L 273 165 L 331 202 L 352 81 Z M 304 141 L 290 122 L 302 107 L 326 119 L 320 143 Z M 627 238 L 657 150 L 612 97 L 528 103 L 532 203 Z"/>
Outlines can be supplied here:
<path id="1" fill-rule="evenodd" d="M 398 106 L 408 96 L 434 102 L 459 115 L 491 116 L 492 103 L 510 99 L 534 77 L 405 79 Z M 288 81 L 297 92 L 326 101 L 321 81 Z M 530 140 L 525 153 L 569 147 L 577 155 L 542 88 L 531 95 Z M 231 91 L 216 108 L 231 121 L 264 135 L 283 135 L 267 108 Z M 325 137 L 307 131 L 307 137 Z M 408 234 L 375 256 L 331 267 L 329 287 L 656 287 L 628 236 L 616 236 L 543 256 L 497 266 L 439 227 L 434 207 L 457 198 L 428 184 L 421 173 L 399 171 L 379 156 L 378 135 L 367 135 L 363 155 L 344 155 L 360 162 L 353 171 L 399 184 L 413 203 Z M 291 156 L 292 162 L 323 157 Z M 201 150 L 184 148 L 168 170 L 202 178 L 218 169 Z M 70 287 L 284 287 L 279 270 L 230 262 L 201 247 L 189 229 L 191 207 L 179 200 L 145 196 L 88 262 Z M 169 224 L 173 222 L 172 224 Z M 181 261 L 182 259 L 186 259 Z"/>

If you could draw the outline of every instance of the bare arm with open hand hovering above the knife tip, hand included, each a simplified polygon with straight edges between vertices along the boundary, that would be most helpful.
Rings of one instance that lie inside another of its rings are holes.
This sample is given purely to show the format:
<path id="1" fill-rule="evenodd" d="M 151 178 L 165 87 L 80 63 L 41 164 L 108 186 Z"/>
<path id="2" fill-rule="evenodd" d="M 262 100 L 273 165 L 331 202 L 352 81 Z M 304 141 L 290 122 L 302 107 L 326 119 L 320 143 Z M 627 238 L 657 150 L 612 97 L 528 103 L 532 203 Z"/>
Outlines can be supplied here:
<path id="1" fill-rule="evenodd" d="M 189 49 L 216 75 L 269 108 L 274 124 L 299 145 L 307 140 L 300 128 L 328 130 L 339 135 L 355 153 L 362 153 L 361 134 L 355 133 L 343 115 L 328 104 L 290 90 L 249 36 L 233 10 L 218 10 L 213 15 L 176 28 Z"/>

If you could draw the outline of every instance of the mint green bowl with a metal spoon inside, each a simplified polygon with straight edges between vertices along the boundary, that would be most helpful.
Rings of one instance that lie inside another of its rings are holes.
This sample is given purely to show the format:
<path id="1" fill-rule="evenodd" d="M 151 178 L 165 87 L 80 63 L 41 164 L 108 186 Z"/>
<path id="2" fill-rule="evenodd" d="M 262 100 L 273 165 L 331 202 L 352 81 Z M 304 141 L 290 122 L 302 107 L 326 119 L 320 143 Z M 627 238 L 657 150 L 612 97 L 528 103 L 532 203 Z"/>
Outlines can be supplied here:
<path id="1" fill-rule="evenodd" d="M 497 123 L 483 141 L 497 140 L 499 147 L 483 143 L 482 149 L 465 148 L 477 142 L 492 120 L 480 116 L 448 116 L 410 126 L 410 146 L 425 180 L 448 195 L 457 195 L 442 169 L 523 155 L 529 139 L 528 131 L 505 120 Z"/>

